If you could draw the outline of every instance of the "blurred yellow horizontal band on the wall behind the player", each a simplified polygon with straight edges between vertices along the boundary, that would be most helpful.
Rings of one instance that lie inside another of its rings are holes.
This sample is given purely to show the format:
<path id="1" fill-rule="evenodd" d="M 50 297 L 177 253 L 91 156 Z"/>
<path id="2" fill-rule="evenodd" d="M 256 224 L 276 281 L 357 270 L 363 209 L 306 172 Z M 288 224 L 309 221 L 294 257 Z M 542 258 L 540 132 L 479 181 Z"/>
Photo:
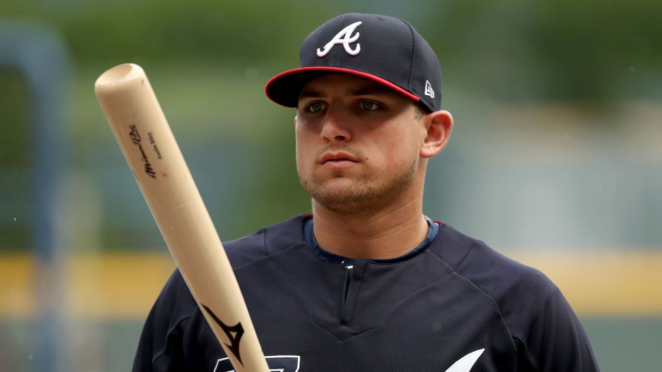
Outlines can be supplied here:
<path id="1" fill-rule="evenodd" d="M 580 316 L 659 316 L 662 250 L 508 254 L 540 269 Z M 76 318 L 144 318 L 175 267 L 158 253 L 70 257 L 64 263 L 62 306 Z M 28 254 L 0 256 L 0 316 L 36 315 L 36 262 Z"/>

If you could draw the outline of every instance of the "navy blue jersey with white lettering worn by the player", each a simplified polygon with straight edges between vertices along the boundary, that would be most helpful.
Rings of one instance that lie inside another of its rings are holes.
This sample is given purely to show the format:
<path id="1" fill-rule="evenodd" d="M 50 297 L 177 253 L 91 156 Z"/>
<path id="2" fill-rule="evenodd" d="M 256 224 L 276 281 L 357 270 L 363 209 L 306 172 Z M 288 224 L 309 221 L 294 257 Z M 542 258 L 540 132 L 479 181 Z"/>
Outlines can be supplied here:
<path id="1" fill-rule="evenodd" d="M 311 249 L 306 219 L 224 243 L 272 371 L 598 371 L 577 316 L 540 271 L 448 224 L 404 259 L 346 265 Z M 134 371 L 232 370 L 175 270 Z"/>

